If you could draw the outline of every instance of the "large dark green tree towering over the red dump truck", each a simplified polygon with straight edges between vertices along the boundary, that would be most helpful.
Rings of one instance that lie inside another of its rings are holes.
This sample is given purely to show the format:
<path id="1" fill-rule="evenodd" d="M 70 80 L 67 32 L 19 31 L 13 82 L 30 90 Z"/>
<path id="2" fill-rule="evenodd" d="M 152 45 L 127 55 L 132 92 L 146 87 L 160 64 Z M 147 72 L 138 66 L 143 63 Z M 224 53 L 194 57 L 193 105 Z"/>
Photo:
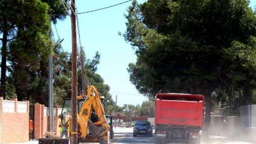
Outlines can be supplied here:
<path id="1" fill-rule="evenodd" d="M 140 93 L 205 95 L 206 131 L 215 90 L 241 90 L 252 104 L 256 18 L 247 0 L 133 1 L 126 18 L 123 36 L 137 55 L 128 72 Z"/>

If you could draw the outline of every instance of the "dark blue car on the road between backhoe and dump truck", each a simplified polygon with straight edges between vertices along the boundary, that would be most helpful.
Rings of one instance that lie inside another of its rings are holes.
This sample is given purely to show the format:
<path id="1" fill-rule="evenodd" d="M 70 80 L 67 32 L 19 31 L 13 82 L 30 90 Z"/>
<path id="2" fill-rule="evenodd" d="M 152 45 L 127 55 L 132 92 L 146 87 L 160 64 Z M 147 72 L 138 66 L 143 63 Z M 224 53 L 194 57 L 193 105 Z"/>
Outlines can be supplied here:
<path id="1" fill-rule="evenodd" d="M 152 125 L 148 121 L 137 121 L 133 128 L 133 136 L 147 135 L 153 136 Z"/>

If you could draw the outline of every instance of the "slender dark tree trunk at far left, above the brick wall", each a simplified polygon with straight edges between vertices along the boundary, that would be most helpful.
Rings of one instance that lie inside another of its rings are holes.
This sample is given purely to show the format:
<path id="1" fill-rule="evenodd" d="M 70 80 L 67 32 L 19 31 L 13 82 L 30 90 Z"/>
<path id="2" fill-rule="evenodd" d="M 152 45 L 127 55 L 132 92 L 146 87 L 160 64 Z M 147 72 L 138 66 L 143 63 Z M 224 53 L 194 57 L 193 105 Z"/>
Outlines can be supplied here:
<path id="1" fill-rule="evenodd" d="M 3 18 L 3 39 L 2 39 L 2 61 L 1 61 L 1 80 L 0 80 L 0 97 L 5 99 L 6 92 L 6 57 L 7 57 L 7 19 Z"/>

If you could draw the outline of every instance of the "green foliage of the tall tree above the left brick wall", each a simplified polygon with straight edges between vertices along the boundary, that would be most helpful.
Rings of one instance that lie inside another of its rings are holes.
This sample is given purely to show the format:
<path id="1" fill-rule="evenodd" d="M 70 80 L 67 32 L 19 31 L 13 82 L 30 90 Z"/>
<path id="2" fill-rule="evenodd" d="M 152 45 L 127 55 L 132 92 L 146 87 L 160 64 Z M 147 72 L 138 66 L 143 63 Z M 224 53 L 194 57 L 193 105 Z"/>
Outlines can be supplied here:
<path id="1" fill-rule="evenodd" d="M 40 95 L 34 93 L 34 88 L 47 84 L 38 76 L 40 61 L 47 59 L 52 48 L 50 20 L 56 23 L 57 19 L 64 19 L 64 15 L 56 15 L 63 13 L 65 9 L 60 0 L 0 1 L 0 34 L 3 36 L 1 56 L 2 60 L 8 57 L 11 63 L 7 70 L 11 73 L 9 77 L 14 77 L 11 82 L 16 88 L 19 87 L 17 93 L 22 93 L 18 95 L 19 99 L 30 99 L 27 93 Z M 1 62 L 1 71 L 6 71 L 6 61 Z M 2 72 L 2 96 L 5 93 L 5 77 L 6 72 Z M 42 90 L 44 92 L 45 89 Z"/>

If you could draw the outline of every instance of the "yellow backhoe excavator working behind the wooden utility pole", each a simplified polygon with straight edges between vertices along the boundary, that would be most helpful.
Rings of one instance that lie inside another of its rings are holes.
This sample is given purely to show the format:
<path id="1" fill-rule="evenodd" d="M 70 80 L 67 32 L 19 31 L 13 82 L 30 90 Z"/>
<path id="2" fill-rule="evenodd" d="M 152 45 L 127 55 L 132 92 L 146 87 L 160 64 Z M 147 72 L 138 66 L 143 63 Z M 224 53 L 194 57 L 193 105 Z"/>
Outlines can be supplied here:
<path id="1" fill-rule="evenodd" d="M 112 122 L 106 119 L 101 102 L 102 95 L 93 86 L 87 86 L 87 95 L 80 95 L 78 100 L 78 143 L 81 141 L 99 141 L 100 144 L 110 143 L 113 137 Z M 71 100 L 66 99 L 61 111 L 61 127 L 68 127 L 71 136 Z M 108 118 L 111 119 L 111 116 Z M 69 137 L 70 139 L 71 137 Z M 68 138 L 40 138 L 39 144 L 66 144 Z"/>

